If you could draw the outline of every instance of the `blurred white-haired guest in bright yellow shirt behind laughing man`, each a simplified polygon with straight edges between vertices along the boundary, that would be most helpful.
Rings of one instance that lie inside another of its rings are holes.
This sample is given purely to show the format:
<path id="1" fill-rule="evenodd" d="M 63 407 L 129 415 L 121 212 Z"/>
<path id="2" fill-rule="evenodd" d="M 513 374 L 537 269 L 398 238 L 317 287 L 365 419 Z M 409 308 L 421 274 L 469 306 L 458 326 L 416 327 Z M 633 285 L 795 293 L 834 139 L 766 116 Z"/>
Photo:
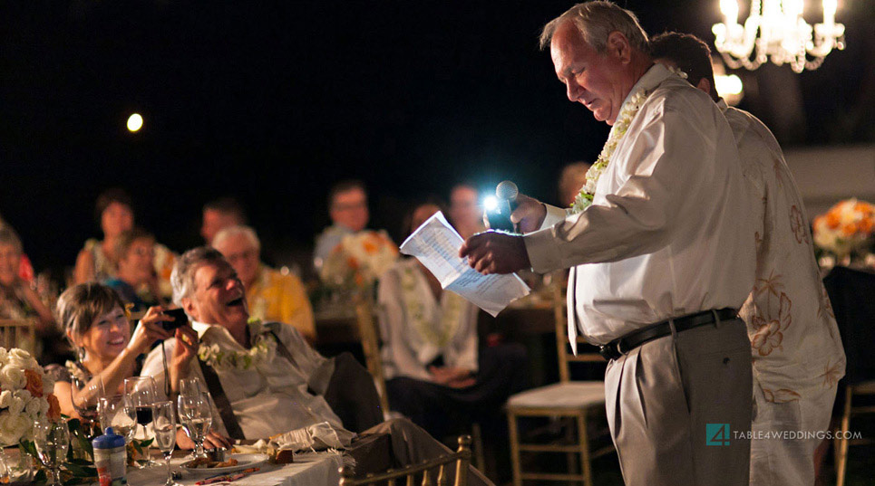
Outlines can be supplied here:
<path id="1" fill-rule="evenodd" d="M 310 343 L 316 340 L 313 309 L 304 285 L 293 273 L 277 272 L 260 261 L 261 242 L 252 228 L 229 226 L 216 234 L 213 247 L 243 281 L 252 317 L 291 324 Z"/>

